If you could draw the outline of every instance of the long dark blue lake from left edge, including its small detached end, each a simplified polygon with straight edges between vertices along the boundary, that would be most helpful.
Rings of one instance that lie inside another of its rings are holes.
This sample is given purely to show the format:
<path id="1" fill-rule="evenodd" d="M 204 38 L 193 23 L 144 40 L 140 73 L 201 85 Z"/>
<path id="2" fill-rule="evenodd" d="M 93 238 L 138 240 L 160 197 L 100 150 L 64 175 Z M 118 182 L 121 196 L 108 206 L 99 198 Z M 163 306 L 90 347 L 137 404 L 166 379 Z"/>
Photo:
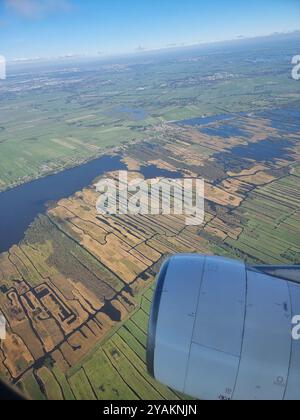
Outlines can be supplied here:
<path id="1" fill-rule="evenodd" d="M 40 178 L 0 193 L 0 253 L 18 244 L 35 218 L 45 213 L 47 203 L 67 198 L 111 171 L 127 170 L 121 156 L 102 156 L 81 166 Z M 142 167 L 146 179 L 179 178 L 180 173 Z"/>

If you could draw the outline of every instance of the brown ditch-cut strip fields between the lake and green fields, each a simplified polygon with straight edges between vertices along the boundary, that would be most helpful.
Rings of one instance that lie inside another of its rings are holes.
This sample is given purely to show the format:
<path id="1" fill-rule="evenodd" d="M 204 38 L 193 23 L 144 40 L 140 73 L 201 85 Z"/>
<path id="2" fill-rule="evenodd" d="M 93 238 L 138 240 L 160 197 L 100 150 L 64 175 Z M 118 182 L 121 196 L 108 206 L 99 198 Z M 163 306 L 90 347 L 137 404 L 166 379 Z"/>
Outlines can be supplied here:
<path id="1" fill-rule="evenodd" d="M 244 123 L 251 132 L 250 143 L 276 136 L 266 120 L 246 118 Z M 205 224 L 189 227 L 185 217 L 174 215 L 98 215 L 94 186 L 53 204 L 41 215 L 21 244 L 0 255 L 0 307 L 9 324 L 8 339 L 0 343 L 0 375 L 21 384 L 28 393 L 31 386 L 48 399 L 62 398 L 56 375 L 65 383 L 74 367 L 136 313 L 141 294 L 153 285 L 168 255 L 221 253 L 263 260 L 255 249 L 249 250 L 255 238 L 244 240 L 256 226 L 247 218 L 252 211 L 247 205 L 281 180 L 283 191 L 291 191 L 284 181 L 296 178 L 289 175 L 291 161 L 257 164 L 241 159 L 229 168 L 220 160 L 220 152 L 247 144 L 245 139 L 207 136 L 173 124 L 155 130 L 154 144 L 129 145 L 124 148 L 124 161 L 132 171 L 155 164 L 180 170 L 184 176 L 205 176 Z M 296 145 L 293 160 L 292 164 L 300 161 Z M 274 199 L 274 193 L 265 194 Z M 264 213 L 259 205 L 257 209 L 268 220 L 268 211 Z M 296 223 L 295 212 L 293 207 L 292 216 L 287 213 L 290 223 Z M 285 220 L 279 217 L 276 223 L 281 227 Z M 294 255 L 297 249 L 287 245 L 285 252 Z M 147 317 L 143 313 L 143 319 Z M 115 344 L 123 349 L 120 340 Z M 109 351 L 102 356 L 105 363 L 118 365 Z M 82 370 L 76 375 L 67 389 L 71 386 L 74 394 L 81 395 L 76 380 L 87 379 Z"/>

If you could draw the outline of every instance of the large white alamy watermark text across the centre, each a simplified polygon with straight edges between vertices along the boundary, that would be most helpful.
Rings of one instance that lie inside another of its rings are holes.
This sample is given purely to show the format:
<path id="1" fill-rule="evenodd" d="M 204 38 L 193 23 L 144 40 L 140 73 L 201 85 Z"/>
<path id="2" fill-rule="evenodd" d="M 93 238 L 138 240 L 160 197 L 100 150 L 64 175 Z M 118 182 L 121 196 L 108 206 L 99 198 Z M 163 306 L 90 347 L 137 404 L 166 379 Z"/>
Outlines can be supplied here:
<path id="1" fill-rule="evenodd" d="M 178 215 L 188 226 L 204 222 L 203 179 L 129 179 L 126 171 L 117 179 L 102 179 L 97 212 L 101 215 Z"/>

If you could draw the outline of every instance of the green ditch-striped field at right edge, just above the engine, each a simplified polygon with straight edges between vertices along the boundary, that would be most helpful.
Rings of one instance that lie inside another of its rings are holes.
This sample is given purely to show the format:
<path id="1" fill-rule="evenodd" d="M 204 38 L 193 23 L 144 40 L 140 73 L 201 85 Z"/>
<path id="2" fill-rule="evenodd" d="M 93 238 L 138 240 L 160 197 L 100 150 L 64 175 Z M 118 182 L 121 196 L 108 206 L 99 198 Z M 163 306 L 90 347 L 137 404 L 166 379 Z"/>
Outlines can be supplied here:
<path id="1" fill-rule="evenodd" d="M 237 211 L 247 219 L 235 250 L 266 264 L 291 264 L 300 259 L 299 178 L 288 176 L 250 195 Z"/>

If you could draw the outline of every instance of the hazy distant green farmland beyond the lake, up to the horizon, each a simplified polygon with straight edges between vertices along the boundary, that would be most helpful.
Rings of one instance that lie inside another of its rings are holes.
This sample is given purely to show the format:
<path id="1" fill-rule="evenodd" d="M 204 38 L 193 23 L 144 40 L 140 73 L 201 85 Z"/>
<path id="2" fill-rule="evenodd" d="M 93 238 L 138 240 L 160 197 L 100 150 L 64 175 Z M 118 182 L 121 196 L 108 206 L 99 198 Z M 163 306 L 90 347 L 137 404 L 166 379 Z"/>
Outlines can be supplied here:
<path id="1" fill-rule="evenodd" d="M 141 141 L 161 121 L 296 102 L 290 57 L 298 48 L 299 37 L 286 36 L 119 62 L 12 66 L 0 84 L 0 191 Z"/>

